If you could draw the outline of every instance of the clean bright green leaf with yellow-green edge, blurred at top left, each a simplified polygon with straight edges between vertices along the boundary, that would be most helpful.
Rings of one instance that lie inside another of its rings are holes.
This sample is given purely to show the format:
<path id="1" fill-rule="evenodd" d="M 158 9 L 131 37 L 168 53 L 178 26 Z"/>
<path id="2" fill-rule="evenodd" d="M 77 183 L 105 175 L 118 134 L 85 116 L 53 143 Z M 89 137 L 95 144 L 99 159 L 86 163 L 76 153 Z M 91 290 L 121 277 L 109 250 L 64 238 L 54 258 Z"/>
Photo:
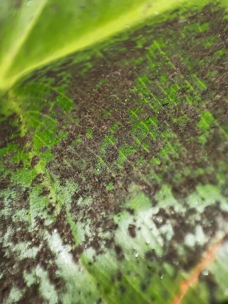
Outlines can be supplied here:
<path id="1" fill-rule="evenodd" d="M 182 1 L 1 1 L 0 88 Z"/>

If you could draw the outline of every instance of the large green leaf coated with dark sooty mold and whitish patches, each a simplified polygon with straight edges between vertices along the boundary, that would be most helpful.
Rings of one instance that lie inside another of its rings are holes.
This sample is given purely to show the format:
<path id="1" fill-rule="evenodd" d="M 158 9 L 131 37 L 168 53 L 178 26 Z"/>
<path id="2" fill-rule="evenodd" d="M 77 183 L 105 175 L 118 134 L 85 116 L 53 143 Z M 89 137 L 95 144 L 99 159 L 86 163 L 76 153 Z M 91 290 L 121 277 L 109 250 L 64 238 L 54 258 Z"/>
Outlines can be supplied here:
<path id="1" fill-rule="evenodd" d="M 228 301 L 226 11 L 192 1 L 1 94 L 2 303 Z"/>

